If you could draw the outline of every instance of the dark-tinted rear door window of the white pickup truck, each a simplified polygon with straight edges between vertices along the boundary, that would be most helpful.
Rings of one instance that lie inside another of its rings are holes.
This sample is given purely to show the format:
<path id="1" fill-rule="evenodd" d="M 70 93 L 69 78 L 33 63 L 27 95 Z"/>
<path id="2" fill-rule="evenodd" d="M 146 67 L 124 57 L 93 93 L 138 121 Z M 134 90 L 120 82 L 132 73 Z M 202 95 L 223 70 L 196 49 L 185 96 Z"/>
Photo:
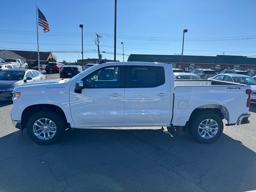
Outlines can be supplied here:
<path id="1" fill-rule="evenodd" d="M 126 87 L 157 87 L 164 82 L 164 67 L 127 66 L 126 68 Z"/>

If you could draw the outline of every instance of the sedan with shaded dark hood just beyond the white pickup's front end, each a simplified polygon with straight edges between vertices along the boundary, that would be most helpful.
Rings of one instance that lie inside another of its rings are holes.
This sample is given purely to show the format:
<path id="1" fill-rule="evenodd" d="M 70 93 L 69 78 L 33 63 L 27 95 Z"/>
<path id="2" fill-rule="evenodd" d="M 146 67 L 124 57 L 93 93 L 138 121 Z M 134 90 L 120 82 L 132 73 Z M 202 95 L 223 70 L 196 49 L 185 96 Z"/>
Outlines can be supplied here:
<path id="1" fill-rule="evenodd" d="M 11 100 L 14 87 L 39 80 L 46 76 L 30 69 L 6 69 L 0 71 L 0 101 Z"/>

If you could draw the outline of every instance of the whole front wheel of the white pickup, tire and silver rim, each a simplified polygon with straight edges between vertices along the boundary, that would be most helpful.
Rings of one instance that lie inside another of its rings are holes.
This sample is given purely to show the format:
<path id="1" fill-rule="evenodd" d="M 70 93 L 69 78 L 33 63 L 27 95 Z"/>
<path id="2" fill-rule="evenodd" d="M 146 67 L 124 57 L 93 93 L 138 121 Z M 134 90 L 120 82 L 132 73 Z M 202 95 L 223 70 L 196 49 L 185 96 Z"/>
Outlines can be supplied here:
<path id="1" fill-rule="evenodd" d="M 37 144 L 53 144 L 64 133 L 64 120 L 56 113 L 41 110 L 33 114 L 27 122 L 27 133 Z"/>

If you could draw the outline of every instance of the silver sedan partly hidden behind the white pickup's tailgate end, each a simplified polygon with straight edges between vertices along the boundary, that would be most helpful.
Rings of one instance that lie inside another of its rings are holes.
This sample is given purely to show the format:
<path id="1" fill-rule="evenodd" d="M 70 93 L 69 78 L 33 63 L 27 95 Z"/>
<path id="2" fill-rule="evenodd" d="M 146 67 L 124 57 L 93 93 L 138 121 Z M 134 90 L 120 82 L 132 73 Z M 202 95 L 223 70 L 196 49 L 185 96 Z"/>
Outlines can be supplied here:
<path id="1" fill-rule="evenodd" d="M 250 85 L 252 89 L 251 102 L 256 103 L 256 80 L 248 75 L 241 74 L 218 74 L 208 80 L 234 82 L 243 85 Z"/>

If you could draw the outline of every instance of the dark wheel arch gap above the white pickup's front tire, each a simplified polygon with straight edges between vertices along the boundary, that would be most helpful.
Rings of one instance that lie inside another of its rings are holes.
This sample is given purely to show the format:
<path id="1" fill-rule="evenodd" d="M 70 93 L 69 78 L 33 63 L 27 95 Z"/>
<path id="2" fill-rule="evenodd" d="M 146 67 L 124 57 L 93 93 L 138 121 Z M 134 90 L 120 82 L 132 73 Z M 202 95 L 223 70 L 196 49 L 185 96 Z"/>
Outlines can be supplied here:
<path id="1" fill-rule="evenodd" d="M 27 108 L 25 108 L 23 110 L 22 116 L 21 116 L 22 130 L 24 130 L 26 128 L 26 124 L 27 124 L 27 121 L 30 118 L 30 116 L 40 110 L 52 110 L 52 111 L 56 112 L 57 114 L 60 114 L 60 116 L 64 119 L 66 124 L 68 123 L 65 113 L 59 106 L 56 106 L 53 104 L 35 104 L 35 105 L 28 106 Z"/>

